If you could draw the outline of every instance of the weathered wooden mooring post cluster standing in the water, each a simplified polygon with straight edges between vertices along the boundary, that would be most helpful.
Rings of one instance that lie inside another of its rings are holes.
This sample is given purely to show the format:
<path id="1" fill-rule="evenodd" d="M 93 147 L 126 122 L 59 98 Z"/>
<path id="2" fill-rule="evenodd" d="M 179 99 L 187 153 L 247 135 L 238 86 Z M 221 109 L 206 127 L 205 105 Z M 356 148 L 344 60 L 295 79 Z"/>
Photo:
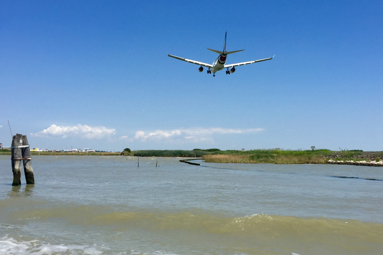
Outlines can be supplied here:
<path id="1" fill-rule="evenodd" d="M 26 135 L 16 134 L 12 138 L 11 160 L 13 183 L 12 186 L 21 185 L 21 160 L 24 165 L 24 174 L 26 184 L 34 184 L 34 176 L 32 169 L 32 158 L 30 157 L 30 149 Z"/>

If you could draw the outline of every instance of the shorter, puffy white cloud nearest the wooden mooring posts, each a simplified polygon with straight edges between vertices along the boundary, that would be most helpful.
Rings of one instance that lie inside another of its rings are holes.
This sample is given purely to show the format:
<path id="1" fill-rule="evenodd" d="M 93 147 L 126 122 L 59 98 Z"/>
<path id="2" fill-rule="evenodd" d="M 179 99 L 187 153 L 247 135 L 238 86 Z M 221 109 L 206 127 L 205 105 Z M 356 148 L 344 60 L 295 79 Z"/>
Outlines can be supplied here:
<path id="1" fill-rule="evenodd" d="M 56 126 L 51 125 L 49 128 L 46 128 L 37 133 L 31 133 L 34 136 L 61 136 L 63 138 L 68 136 L 80 136 L 87 139 L 101 139 L 109 137 L 116 133 L 114 128 L 105 128 L 105 127 L 89 127 L 88 125 L 77 126 Z"/>

